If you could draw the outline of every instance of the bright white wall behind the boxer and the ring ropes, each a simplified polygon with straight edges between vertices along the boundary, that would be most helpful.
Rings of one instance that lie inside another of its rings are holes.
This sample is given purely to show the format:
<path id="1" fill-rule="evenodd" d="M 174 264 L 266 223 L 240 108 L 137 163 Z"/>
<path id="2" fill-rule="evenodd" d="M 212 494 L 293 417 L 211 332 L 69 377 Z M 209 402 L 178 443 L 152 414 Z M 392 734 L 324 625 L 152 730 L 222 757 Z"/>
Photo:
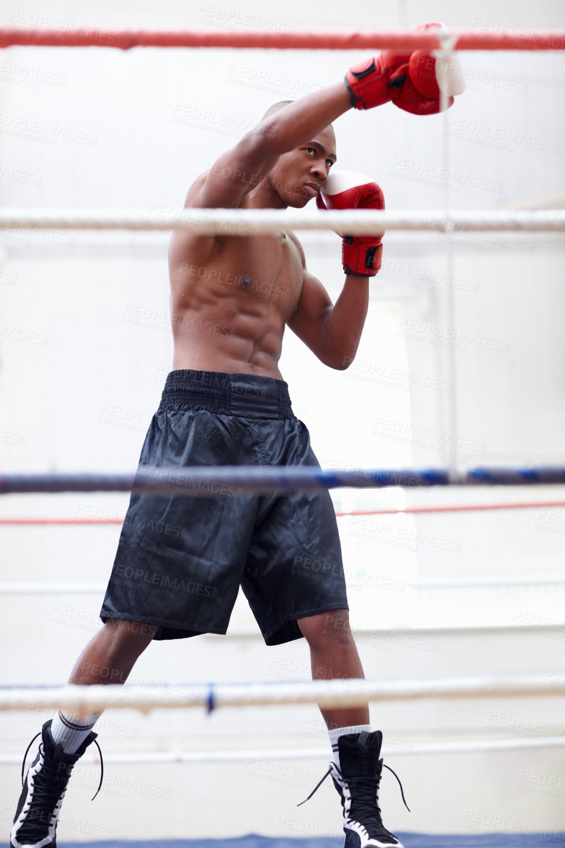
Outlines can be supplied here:
<path id="1" fill-rule="evenodd" d="M 29 25 L 34 15 L 47 19 L 42 25 L 63 28 L 369 30 L 422 20 L 488 31 L 564 25 L 562 3 L 548 0 L 534 7 L 291 2 L 268 12 L 249 0 L 223 6 L 173 0 L 0 3 L 2 25 Z M 362 55 L 5 50 L 0 205 L 180 206 L 194 176 L 268 105 L 337 81 Z M 462 61 L 467 92 L 446 116 L 418 120 L 387 105 L 340 118 L 338 167 L 374 176 L 389 209 L 562 204 L 565 58 L 484 52 L 463 53 Z M 441 170 L 446 138 L 447 186 Z M 562 238 L 514 239 L 469 233 L 449 244 L 443 238 L 387 235 L 383 271 L 372 285 L 366 331 L 350 371 L 328 371 L 288 334 L 282 372 L 322 465 L 443 465 L 453 459 L 453 444 L 462 464 L 563 463 Z M 304 243 L 310 271 L 335 297 L 343 279 L 338 238 L 305 235 Z M 0 234 L 0 250 L 0 465 L 11 471 L 131 469 L 171 366 L 166 237 L 13 232 Z M 16 338 L 22 331 L 30 341 Z M 454 337 L 455 351 L 448 346 Z M 549 487 L 362 496 L 340 491 L 335 499 L 345 508 L 377 508 L 563 499 L 563 494 Z M 5 516 L 120 516 L 125 504 L 119 495 L 11 497 L 0 510 Z M 366 522 L 346 517 L 339 526 L 367 676 L 546 672 L 562 666 L 565 583 L 533 587 L 528 581 L 565 580 L 565 510 L 370 516 Z M 0 527 L 0 580 L 103 582 L 117 538 L 115 527 Z M 489 580 L 523 583 L 468 585 Z M 434 588 L 430 582 L 466 585 Z M 92 594 L 0 594 L 2 682 L 63 683 L 98 628 L 99 603 Z M 305 644 L 265 649 L 239 603 L 227 639 L 155 644 L 136 669 L 147 683 L 286 679 L 307 672 Z M 565 777 L 557 746 L 505 754 L 411 754 L 411 745 L 421 739 L 560 736 L 565 727 L 560 699 L 430 701 L 374 709 L 372 716 L 393 749 L 392 765 L 414 811 L 411 817 L 403 812 L 395 787 L 387 783 L 383 806 L 390 827 L 471 834 L 563 828 Z M 3 717 L 3 751 L 23 752 L 43 718 Z M 101 741 L 108 751 L 325 745 L 316 712 L 299 709 L 230 711 L 210 720 L 185 711 L 148 718 L 109 713 L 105 720 Z M 269 766 L 253 762 L 109 766 L 104 792 L 92 805 L 93 776 L 77 776 L 65 802 L 62 835 L 181 837 L 187 828 L 205 836 L 323 835 L 327 828 L 338 834 L 331 788 L 301 807 L 304 813 L 294 812 L 324 766 L 323 759 L 284 761 L 277 783 Z M 124 789 L 132 773 L 139 785 L 153 782 L 163 791 L 131 784 Z M 548 782 L 554 795 L 545 792 Z M 18 767 L 0 765 L 0 784 L 2 803 L 6 799 L 0 821 L 7 833 Z M 216 812 L 218 792 L 222 818 Z M 188 795 L 203 813 L 199 829 Z M 502 821 L 495 822 L 496 816 Z"/>

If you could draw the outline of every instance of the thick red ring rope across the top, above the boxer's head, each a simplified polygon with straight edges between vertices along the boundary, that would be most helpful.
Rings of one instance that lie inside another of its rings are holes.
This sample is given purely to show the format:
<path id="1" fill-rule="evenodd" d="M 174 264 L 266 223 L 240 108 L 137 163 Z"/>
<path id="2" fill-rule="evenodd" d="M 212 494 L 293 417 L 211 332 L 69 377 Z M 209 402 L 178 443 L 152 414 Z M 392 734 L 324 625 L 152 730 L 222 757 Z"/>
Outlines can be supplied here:
<path id="1" fill-rule="evenodd" d="M 281 25 L 282 26 L 282 25 Z M 286 26 L 286 25 L 285 25 Z M 287 29 L 293 27 L 288 26 Z M 298 28 L 295 28 L 298 29 Z M 565 30 L 474 32 L 452 30 L 456 50 L 565 50 Z M 443 46 L 434 32 L 231 32 L 0 29 L 0 47 L 256 47 L 277 50 L 434 50 Z"/>

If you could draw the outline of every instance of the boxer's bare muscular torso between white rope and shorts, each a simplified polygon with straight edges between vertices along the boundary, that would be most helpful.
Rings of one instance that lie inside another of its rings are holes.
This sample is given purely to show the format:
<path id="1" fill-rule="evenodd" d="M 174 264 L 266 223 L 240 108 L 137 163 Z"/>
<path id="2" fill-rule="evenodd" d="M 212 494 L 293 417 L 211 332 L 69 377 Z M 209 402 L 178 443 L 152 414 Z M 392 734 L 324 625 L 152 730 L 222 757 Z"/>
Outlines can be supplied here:
<path id="1" fill-rule="evenodd" d="M 179 232 L 171 240 L 169 272 L 173 368 L 282 379 L 282 336 L 304 276 L 294 233 Z"/>

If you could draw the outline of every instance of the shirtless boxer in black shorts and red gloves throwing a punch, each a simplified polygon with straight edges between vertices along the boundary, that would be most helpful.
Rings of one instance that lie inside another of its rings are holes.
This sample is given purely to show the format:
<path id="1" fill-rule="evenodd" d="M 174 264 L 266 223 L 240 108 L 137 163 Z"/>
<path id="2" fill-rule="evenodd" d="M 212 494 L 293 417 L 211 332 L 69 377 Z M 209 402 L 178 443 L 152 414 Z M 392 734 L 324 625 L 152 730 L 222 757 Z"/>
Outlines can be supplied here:
<path id="1" fill-rule="evenodd" d="M 189 208 L 301 208 L 318 198 L 336 160 L 331 123 L 352 107 L 392 100 L 413 114 L 439 111 L 429 61 L 387 50 L 344 82 L 271 107 L 187 194 Z M 437 88 L 437 86 L 436 86 Z M 430 96 L 433 95 L 433 96 Z M 452 101 L 451 101 L 452 102 Z M 378 185 L 324 194 L 339 208 L 383 208 Z M 323 206 L 323 203 L 320 203 Z M 317 466 L 278 360 L 289 326 L 331 368 L 344 369 L 366 318 L 378 237 L 344 237 L 345 282 L 335 305 L 305 266 L 292 232 L 260 237 L 176 232 L 169 254 L 173 371 L 140 464 Z M 305 636 L 314 679 L 362 678 L 348 619 L 344 572 L 327 492 L 286 497 L 151 498 L 132 495 L 103 601 L 103 628 L 70 683 L 123 683 L 152 639 L 226 633 L 239 586 L 266 644 Z M 329 617 L 331 616 L 331 617 Z M 378 784 L 383 736 L 368 706 L 325 709 L 330 771 L 344 812 L 346 848 L 399 846 L 383 826 Z M 20 795 L 11 845 L 53 848 L 72 767 L 96 738 L 98 716 L 59 712 Z"/>

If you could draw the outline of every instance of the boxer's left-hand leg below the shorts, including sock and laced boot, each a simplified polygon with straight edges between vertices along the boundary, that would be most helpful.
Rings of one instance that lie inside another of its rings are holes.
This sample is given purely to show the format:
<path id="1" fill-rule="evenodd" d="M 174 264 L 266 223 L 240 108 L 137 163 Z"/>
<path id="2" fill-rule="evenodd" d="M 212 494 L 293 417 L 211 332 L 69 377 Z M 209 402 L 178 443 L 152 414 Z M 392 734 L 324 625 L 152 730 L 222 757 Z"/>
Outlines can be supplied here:
<path id="1" fill-rule="evenodd" d="M 70 676 L 70 683 L 125 683 L 137 657 L 153 639 L 156 627 L 111 619 L 87 644 Z M 55 844 L 57 819 L 70 773 L 96 738 L 97 716 L 59 712 L 42 727 L 36 759 L 25 777 L 10 843 L 49 848 Z"/>

